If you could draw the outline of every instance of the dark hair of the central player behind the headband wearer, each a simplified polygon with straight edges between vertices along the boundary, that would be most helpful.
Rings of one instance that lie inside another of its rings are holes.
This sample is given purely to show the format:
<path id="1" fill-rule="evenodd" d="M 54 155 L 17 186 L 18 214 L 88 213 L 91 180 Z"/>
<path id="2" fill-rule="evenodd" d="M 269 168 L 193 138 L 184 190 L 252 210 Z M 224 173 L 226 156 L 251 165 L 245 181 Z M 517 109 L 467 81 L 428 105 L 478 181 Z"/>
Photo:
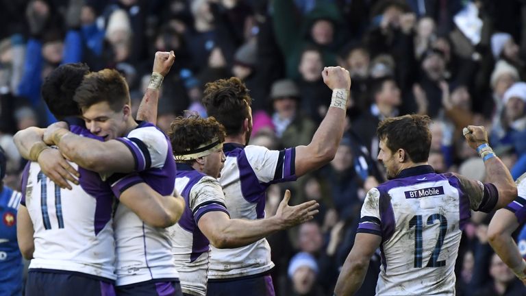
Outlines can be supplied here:
<path id="1" fill-rule="evenodd" d="M 225 127 L 229 136 L 242 132 L 243 122 L 250 116 L 251 103 L 249 90 L 237 77 L 205 85 L 203 105 L 206 112 Z"/>

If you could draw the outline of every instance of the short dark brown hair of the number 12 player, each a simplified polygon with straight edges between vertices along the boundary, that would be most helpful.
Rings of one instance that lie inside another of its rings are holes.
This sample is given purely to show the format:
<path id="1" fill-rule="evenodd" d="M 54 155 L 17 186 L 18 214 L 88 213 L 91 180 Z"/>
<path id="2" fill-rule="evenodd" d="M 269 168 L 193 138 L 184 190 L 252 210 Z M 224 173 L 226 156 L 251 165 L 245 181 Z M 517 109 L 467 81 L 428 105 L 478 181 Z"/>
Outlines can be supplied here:
<path id="1" fill-rule="evenodd" d="M 386 140 L 393 152 L 404 149 L 412 162 L 426 162 L 431 149 L 429 123 L 429 116 L 418 114 L 384 119 L 378 124 L 378 138 Z"/>

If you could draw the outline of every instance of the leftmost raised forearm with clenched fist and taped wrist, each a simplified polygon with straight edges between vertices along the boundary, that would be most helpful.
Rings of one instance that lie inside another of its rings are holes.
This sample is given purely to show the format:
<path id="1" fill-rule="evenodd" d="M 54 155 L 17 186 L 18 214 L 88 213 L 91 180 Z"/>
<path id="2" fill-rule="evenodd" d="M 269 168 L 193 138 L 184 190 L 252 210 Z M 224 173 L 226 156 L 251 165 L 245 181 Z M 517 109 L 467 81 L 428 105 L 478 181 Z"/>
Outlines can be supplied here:
<path id="1" fill-rule="evenodd" d="M 170 72 L 170 68 L 174 61 L 175 55 L 173 51 L 158 51 L 155 53 L 150 83 L 148 84 L 145 95 L 140 101 L 140 106 L 137 111 L 137 120 L 149 121 L 153 124 L 157 123 L 159 88 L 161 87 L 164 77 Z"/>

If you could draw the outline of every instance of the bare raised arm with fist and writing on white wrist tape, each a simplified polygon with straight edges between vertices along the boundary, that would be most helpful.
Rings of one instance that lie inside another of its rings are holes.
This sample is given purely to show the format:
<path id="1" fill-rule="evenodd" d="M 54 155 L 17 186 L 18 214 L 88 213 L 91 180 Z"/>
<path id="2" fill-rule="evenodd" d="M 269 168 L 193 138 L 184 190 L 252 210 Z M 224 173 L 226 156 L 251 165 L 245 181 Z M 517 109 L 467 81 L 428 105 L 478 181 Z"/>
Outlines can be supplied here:
<path id="1" fill-rule="evenodd" d="M 331 105 L 312 141 L 307 146 L 296 147 L 295 168 L 300 177 L 323 167 L 336 155 L 345 127 L 347 99 L 351 89 L 349 71 L 336 66 L 325 67 L 323 82 L 332 90 Z"/>

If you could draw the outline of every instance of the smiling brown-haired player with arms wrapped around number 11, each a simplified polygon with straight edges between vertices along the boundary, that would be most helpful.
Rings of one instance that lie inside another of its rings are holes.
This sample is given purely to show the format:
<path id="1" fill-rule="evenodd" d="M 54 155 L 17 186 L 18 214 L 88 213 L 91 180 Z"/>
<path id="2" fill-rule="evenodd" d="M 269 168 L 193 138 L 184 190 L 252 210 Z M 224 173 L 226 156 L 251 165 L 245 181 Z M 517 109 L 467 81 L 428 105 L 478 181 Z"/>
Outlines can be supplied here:
<path id="1" fill-rule="evenodd" d="M 160 80 L 153 77 L 151 84 L 158 85 Z M 117 71 L 105 69 L 86 75 L 74 99 L 88 130 L 104 141 L 51 125 L 44 134 L 47 144 L 56 145 L 80 166 L 109 175 L 117 198 L 142 181 L 161 195 L 173 193 L 176 169 L 170 141 L 152 123 L 132 118 L 128 86 Z M 129 172 L 135 173 L 125 174 Z M 156 205 L 145 202 L 142 206 Z M 123 204 L 116 208 L 117 295 L 181 295 L 166 230 L 142 220 Z"/>

